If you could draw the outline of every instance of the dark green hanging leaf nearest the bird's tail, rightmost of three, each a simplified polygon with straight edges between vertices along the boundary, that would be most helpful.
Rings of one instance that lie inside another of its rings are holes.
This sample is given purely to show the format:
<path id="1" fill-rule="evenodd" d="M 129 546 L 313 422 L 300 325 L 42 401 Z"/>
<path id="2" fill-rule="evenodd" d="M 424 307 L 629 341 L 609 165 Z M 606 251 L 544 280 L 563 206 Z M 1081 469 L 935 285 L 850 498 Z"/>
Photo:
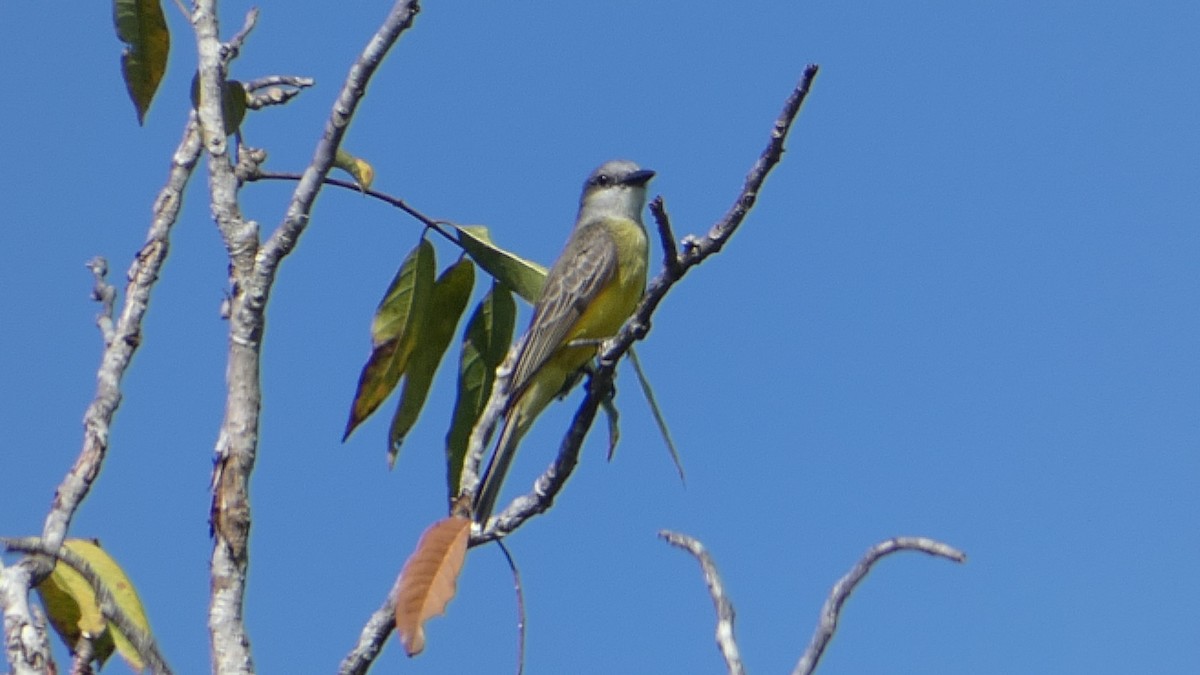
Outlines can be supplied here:
<path id="1" fill-rule="evenodd" d="M 493 280 L 492 289 L 467 322 L 458 362 L 458 395 L 454 404 L 450 430 L 446 432 L 446 482 L 451 500 L 458 494 L 458 478 L 467 456 L 470 431 L 487 405 L 487 398 L 492 395 L 496 369 L 504 360 L 509 342 L 512 341 L 516 316 L 512 293 Z"/>

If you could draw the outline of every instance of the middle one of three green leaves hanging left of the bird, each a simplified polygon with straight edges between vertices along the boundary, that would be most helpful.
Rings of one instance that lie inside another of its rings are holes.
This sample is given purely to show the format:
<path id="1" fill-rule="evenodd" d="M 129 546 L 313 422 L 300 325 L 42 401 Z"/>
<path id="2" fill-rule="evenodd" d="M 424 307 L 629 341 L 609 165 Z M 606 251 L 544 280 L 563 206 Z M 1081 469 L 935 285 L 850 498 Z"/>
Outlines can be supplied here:
<path id="1" fill-rule="evenodd" d="M 475 265 L 466 257 L 442 273 L 433 283 L 430 305 L 416 333 L 413 356 L 408 359 L 404 388 L 400 393 L 400 404 L 391 420 L 388 437 L 389 467 L 396 464 L 396 455 L 400 454 L 404 436 L 416 424 L 438 364 L 450 346 L 450 339 L 454 338 L 455 328 L 458 327 L 458 319 L 467 309 L 467 300 L 470 299 L 470 291 L 474 287 Z"/>

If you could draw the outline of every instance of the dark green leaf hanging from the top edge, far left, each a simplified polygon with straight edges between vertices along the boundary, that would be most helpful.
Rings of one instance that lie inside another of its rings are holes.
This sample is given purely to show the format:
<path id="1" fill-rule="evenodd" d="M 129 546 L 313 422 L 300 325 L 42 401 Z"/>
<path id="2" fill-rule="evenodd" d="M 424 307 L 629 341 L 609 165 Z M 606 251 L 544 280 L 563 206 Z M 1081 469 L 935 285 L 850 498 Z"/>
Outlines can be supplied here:
<path id="1" fill-rule="evenodd" d="M 142 124 L 167 72 L 167 18 L 157 0 L 113 0 L 113 23 L 116 37 L 126 44 L 121 50 L 121 76 Z"/>

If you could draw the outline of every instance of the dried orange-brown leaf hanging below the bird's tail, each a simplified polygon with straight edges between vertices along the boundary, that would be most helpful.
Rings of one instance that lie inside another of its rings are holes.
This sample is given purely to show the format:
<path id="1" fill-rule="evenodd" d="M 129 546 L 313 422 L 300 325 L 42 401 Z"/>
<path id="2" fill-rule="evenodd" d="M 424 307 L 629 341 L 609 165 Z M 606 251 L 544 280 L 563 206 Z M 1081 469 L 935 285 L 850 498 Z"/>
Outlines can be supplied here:
<path id="1" fill-rule="evenodd" d="M 469 536 L 469 519 L 442 519 L 421 534 L 416 550 L 404 562 L 396 598 L 396 634 L 408 656 L 421 653 L 425 622 L 445 613 L 454 598 Z"/>

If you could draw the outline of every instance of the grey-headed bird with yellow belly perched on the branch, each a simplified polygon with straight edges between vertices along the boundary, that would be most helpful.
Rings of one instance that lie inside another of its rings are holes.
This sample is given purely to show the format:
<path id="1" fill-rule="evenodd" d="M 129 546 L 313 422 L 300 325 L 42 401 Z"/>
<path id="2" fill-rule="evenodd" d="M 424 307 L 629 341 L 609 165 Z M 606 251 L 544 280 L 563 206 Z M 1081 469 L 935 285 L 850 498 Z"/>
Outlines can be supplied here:
<path id="1" fill-rule="evenodd" d="M 487 524 L 521 437 L 596 353 L 594 344 L 570 345 L 612 338 L 641 301 L 649 258 L 642 209 L 652 178 L 653 171 L 613 160 L 583 183 L 575 229 L 516 347 L 504 428 L 475 498 L 476 522 Z"/>

